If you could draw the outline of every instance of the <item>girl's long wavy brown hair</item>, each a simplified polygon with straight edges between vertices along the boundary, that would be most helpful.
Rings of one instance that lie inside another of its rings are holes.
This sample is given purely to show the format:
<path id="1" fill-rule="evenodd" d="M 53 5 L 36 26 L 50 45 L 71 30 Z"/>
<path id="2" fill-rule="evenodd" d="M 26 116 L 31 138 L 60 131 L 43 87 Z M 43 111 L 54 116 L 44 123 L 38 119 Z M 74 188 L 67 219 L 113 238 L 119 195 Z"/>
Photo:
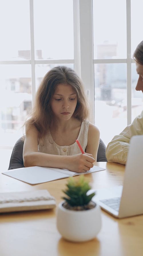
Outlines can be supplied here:
<path id="1" fill-rule="evenodd" d="M 37 90 L 35 104 L 27 124 L 34 124 L 39 131 L 39 139 L 43 138 L 49 128 L 55 124 L 51 109 L 51 99 L 58 84 L 69 84 L 77 95 L 77 105 L 73 116 L 80 121 L 89 115 L 84 86 L 76 72 L 65 66 L 57 66 L 46 73 Z"/>

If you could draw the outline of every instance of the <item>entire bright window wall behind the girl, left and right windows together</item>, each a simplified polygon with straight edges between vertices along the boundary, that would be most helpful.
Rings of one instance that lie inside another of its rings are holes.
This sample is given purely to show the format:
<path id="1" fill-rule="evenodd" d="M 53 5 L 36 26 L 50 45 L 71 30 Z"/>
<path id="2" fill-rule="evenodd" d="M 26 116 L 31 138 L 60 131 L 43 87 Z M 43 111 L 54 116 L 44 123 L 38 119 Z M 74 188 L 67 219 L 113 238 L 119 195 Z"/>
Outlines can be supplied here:
<path id="1" fill-rule="evenodd" d="M 82 78 L 91 120 L 106 145 L 140 113 L 132 55 L 142 41 L 142 7 L 141 0 L 0 3 L 0 150 L 6 164 L 41 79 L 56 65 Z"/>

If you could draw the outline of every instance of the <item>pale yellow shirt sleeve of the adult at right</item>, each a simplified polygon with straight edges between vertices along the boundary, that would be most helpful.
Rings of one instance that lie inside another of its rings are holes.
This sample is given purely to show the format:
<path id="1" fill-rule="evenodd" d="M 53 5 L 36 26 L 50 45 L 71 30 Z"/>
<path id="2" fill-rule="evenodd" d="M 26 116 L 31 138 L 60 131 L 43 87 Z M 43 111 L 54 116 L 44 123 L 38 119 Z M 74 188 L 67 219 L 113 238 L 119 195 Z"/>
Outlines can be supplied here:
<path id="1" fill-rule="evenodd" d="M 119 135 L 114 136 L 106 148 L 108 162 L 126 164 L 130 139 L 134 135 L 143 134 L 143 111 L 138 115 L 132 124 L 128 125 Z"/>

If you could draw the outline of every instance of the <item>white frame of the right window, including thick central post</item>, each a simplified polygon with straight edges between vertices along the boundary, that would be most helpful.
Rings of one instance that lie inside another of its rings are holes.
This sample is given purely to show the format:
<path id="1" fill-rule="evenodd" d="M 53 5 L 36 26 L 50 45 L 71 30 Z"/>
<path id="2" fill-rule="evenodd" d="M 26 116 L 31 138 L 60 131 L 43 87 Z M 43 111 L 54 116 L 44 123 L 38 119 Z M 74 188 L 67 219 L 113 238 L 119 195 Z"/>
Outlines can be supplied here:
<path id="1" fill-rule="evenodd" d="M 75 51 L 75 69 L 84 81 L 86 90 L 90 90 L 89 100 L 91 111 L 96 119 L 94 109 L 94 64 L 103 63 L 126 63 L 127 64 L 127 125 L 132 120 L 132 75 L 131 65 L 134 59 L 131 56 L 131 0 L 126 0 L 126 30 L 127 30 L 127 58 L 125 59 L 94 59 L 93 55 L 93 1 L 92 0 L 74 0 L 74 15 L 79 16 L 78 29 L 76 33 L 80 34 L 78 39 L 78 53 Z M 78 10 L 78 11 L 77 11 Z M 79 42 L 80 40 L 80 42 Z M 77 55 L 77 56 L 76 56 Z M 79 67 L 78 67 L 79 66 Z M 92 122 L 95 122 L 95 119 Z"/>

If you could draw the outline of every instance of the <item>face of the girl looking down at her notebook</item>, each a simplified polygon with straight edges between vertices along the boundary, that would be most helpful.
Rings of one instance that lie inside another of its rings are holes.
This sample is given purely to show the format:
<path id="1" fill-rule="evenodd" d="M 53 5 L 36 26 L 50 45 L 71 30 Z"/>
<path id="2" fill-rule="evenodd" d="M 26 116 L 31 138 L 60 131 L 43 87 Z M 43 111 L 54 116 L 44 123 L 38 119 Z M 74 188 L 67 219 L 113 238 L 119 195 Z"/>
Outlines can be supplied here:
<path id="1" fill-rule="evenodd" d="M 69 84 L 58 84 L 51 100 L 51 109 L 59 120 L 69 120 L 76 108 L 77 95 Z"/>

